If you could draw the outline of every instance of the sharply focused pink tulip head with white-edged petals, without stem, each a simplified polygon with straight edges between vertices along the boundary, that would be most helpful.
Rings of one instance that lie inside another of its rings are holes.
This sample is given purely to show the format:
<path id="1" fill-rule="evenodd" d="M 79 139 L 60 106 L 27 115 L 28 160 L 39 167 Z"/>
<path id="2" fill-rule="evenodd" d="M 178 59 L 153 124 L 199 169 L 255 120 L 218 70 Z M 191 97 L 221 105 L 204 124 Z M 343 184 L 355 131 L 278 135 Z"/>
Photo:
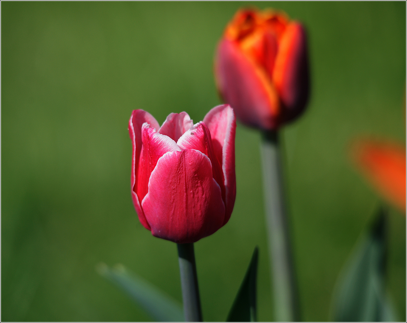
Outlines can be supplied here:
<path id="1" fill-rule="evenodd" d="M 133 111 L 131 197 L 153 236 L 193 243 L 228 222 L 236 197 L 235 131 L 229 105 L 195 125 L 186 112 L 171 113 L 161 128 L 148 112 Z"/>

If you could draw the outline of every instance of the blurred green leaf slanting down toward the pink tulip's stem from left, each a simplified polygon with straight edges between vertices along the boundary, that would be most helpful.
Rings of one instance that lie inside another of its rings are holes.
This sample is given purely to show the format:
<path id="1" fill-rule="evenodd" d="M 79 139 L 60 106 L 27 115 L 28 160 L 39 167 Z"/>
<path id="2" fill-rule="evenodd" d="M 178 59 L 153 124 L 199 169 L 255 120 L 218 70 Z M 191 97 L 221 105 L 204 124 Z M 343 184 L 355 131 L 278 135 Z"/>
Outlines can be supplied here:
<path id="1" fill-rule="evenodd" d="M 149 282 L 130 273 L 123 265 L 114 269 L 99 264 L 98 273 L 124 289 L 138 305 L 158 322 L 184 322 L 182 306 Z"/>

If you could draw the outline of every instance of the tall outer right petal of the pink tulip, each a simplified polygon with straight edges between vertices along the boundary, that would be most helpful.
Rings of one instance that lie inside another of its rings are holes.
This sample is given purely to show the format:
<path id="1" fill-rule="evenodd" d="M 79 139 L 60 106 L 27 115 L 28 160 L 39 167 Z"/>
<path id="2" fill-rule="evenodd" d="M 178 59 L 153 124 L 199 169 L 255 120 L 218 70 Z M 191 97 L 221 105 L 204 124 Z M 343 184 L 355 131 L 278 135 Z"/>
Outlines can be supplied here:
<path id="1" fill-rule="evenodd" d="M 225 220 L 229 221 L 236 198 L 236 173 L 234 166 L 234 139 L 236 135 L 236 117 L 228 104 L 215 106 L 204 118 L 212 138 L 215 155 L 222 165 L 225 180 Z"/>

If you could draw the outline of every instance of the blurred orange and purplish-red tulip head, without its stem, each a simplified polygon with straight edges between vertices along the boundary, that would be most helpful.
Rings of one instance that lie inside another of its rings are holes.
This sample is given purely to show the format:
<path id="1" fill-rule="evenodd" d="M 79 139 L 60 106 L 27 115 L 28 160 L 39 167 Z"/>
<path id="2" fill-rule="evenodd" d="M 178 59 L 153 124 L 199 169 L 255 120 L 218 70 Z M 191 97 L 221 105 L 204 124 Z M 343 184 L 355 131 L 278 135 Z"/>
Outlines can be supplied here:
<path id="1" fill-rule="evenodd" d="M 304 27 L 284 13 L 238 11 L 218 44 L 215 79 L 240 121 L 277 129 L 297 117 L 308 100 Z"/>

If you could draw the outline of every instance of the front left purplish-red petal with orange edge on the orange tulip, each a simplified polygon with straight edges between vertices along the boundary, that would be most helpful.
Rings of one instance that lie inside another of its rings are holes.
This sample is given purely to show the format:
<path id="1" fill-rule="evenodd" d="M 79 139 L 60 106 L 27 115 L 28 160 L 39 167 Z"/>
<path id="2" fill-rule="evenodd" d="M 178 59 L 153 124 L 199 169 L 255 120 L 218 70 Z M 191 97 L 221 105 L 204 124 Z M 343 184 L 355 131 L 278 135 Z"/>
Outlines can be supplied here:
<path id="1" fill-rule="evenodd" d="M 278 93 L 263 68 L 250 60 L 237 43 L 223 39 L 215 59 L 218 89 L 245 124 L 263 129 L 277 126 Z"/>

